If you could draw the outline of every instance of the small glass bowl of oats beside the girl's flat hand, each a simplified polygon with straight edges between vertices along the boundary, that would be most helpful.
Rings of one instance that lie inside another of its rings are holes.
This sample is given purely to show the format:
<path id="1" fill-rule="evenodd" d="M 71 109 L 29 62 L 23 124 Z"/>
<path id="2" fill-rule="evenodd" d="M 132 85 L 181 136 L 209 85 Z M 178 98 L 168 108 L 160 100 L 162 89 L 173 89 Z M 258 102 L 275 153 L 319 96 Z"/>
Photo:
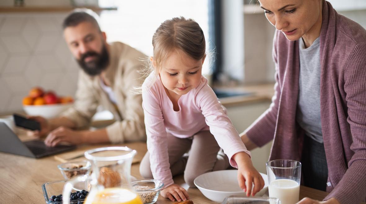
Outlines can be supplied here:
<path id="1" fill-rule="evenodd" d="M 132 188 L 140 196 L 142 203 L 153 204 L 158 200 L 160 189 L 164 183 L 154 179 L 138 179 L 131 181 Z"/>

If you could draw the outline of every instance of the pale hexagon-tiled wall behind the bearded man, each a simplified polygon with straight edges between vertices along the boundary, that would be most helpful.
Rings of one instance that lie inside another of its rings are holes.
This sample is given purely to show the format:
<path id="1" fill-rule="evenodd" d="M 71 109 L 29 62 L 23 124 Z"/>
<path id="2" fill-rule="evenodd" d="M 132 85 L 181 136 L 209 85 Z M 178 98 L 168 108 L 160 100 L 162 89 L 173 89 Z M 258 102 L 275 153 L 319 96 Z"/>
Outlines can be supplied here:
<path id="1" fill-rule="evenodd" d="M 62 36 L 66 15 L 0 14 L 0 114 L 21 110 L 33 86 L 74 96 L 79 67 Z"/>

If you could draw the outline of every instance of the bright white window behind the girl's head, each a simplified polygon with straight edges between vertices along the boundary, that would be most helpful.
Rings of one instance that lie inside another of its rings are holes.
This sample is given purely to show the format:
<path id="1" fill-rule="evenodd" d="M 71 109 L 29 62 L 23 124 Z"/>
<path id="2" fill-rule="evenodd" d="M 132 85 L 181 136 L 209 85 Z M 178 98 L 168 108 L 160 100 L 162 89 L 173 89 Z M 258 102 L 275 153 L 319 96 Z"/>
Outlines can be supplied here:
<path id="1" fill-rule="evenodd" d="M 117 7 L 117 11 L 102 11 L 101 29 L 107 33 L 107 41 L 126 43 L 148 56 L 153 53 L 153 34 L 164 20 L 183 16 L 194 19 L 205 34 L 209 50 L 209 0 L 99 0 L 100 7 Z M 209 74 L 210 61 L 206 58 L 202 73 Z"/>

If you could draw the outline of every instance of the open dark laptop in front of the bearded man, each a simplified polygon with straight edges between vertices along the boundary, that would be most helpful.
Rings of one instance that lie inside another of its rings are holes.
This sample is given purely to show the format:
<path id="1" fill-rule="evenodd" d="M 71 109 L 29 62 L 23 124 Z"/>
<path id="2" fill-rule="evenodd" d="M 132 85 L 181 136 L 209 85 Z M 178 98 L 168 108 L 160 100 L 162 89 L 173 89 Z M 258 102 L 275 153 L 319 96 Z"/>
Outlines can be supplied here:
<path id="1" fill-rule="evenodd" d="M 25 157 L 41 158 L 75 148 L 75 145 L 47 147 L 41 140 L 22 142 L 5 123 L 0 122 L 0 151 L 2 152 L 18 154 Z"/>

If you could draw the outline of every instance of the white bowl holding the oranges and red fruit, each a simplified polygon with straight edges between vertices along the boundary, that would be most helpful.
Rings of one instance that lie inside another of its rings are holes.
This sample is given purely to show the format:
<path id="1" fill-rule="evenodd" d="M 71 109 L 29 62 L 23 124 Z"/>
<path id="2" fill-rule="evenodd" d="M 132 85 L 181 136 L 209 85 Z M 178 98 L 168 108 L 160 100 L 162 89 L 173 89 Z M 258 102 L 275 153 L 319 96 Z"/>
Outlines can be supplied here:
<path id="1" fill-rule="evenodd" d="M 61 112 L 70 108 L 72 103 L 65 104 L 46 104 L 46 105 L 23 105 L 27 115 L 42 116 L 44 118 L 55 118 Z"/>

